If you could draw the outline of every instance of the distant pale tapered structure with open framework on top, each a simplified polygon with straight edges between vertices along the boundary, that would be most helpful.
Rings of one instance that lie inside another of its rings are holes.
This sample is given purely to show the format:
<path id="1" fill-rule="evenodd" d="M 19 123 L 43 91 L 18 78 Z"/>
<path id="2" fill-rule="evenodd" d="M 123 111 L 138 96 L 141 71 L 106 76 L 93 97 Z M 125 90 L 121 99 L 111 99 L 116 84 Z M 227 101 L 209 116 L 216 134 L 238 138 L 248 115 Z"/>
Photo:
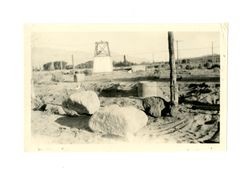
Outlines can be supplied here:
<path id="1" fill-rule="evenodd" d="M 112 72 L 113 63 L 107 41 L 95 42 L 93 73 Z"/>

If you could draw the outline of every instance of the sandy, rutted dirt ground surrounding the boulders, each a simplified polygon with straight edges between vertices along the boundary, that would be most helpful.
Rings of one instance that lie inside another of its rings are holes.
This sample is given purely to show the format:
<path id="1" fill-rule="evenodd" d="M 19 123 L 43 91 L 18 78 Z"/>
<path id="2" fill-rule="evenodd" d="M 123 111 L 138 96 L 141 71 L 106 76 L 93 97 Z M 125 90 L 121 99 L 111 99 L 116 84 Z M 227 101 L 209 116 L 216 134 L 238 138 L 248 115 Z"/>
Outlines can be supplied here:
<path id="1" fill-rule="evenodd" d="M 31 111 L 32 137 L 41 142 L 62 144 L 117 142 L 219 143 L 219 76 L 212 70 L 210 73 L 209 75 L 214 78 L 213 81 L 210 81 L 211 77 L 208 77 L 207 73 L 202 76 L 199 74 L 198 79 L 198 73 L 195 71 L 183 75 L 182 78 L 184 77 L 184 79 L 178 81 L 179 94 L 187 98 L 179 105 L 177 117 L 154 118 L 148 116 L 147 126 L 128 138 L 92 132 L 88 127 L 90 116 L 69 117 L 57 114 L 53 110 Z M 74 92 L 93 90 L 98 94 L 101 106 L 108 104 L 133 105 L 143 110 L 142 99 L 138 97 L 137 89 L 138 82 L 141 80 L 156 81 L 162 95 L 169 97 L 167 77 L 156 76 L 152 72 L 132 74 L 114 72 L 112 74 L 89 76 L 78 74 L 79 82 L 77 83 L 73 82 L 72 75 L 63 75 L 63 78 L 63 82 L 54 82 L 51 81 L 50 72 L 34 72 L 33 90 L 35 98 L 46 105 L 60 106 L 62 101 Z M 191 87 L 204 82 L 211 92 L 209 91 L 205 95 L 198 93 L 188 96 Z M 211 100 L 211 97 L 215 100 Z M 208 98 L 210 101 L 208 100 L 206 104 L 206 101 L 205 103 L 204 101 L 199 102 L 198 98 L 203 100 Z"/>

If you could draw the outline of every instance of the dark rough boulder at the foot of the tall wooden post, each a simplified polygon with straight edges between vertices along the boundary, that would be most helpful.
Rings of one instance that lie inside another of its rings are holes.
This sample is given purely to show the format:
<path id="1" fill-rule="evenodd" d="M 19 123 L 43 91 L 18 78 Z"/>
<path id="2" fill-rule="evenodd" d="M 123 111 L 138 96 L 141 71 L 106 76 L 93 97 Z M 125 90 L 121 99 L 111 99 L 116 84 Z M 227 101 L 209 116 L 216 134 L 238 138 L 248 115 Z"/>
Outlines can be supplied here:
<path id="1" fill-rule="evenodd" d="M 142 101 L 145 112 L 153 117 L 170 115 L 171 105 L 161 97 L 147 97 Z"/>

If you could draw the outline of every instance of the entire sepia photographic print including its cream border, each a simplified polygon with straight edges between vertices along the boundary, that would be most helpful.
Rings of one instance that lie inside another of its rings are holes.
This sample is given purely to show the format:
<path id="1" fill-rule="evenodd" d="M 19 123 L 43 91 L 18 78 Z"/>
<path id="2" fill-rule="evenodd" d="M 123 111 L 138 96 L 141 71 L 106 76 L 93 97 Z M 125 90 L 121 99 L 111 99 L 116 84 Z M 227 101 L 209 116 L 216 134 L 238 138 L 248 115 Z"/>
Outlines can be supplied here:
<path id="1" fill-rule="evenodd" d="M 225 149 L 227 25 L 26 25 L 24 47 L 26 150 Z"/>

